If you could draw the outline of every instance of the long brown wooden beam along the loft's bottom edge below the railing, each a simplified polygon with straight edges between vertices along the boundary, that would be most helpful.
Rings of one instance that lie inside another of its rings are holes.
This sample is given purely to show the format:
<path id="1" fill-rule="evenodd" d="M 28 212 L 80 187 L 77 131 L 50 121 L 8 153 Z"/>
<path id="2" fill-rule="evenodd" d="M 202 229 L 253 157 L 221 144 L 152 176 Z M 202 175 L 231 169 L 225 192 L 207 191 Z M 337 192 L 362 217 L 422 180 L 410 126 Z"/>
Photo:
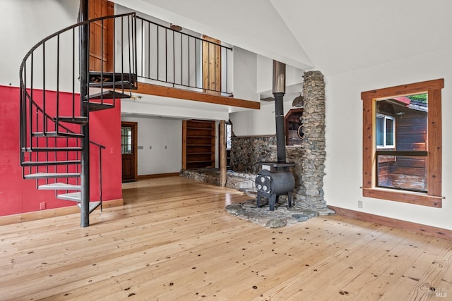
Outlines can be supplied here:
<path id="1" fill-rule="evenodd" d="M 251 100 L 238 99 L 234 97 L 205 94 L 201 92 L 183 90 L 173 87 L 164 87 L 159 85 L 147 84 L 145 82 L 138 82 L 138 90 L 135 90 L 135 92 L 162 97 L 193 100 L 194 102 L 207 102 L 209 104 L 237 106 L 239 108 L 246 109 L 261 109 L 260 102 L 251 102 Z"/>

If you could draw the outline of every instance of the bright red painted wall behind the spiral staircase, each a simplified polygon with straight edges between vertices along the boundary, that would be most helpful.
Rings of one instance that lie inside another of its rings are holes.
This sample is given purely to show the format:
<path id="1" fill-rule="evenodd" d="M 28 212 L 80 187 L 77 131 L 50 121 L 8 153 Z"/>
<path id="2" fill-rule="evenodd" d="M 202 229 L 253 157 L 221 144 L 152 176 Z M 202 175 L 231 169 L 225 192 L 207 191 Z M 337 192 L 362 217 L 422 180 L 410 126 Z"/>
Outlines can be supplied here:
<path id="1" fill-rule="evenodd" d="M 46 91 L 52 97 L 56 92 Z M 60 99 L 72 99 L 60 92 Z M 52 190 L 37 190 L 35 180 L 23 180 L 19 146 L 19 88 L 0 85 L 0 216 L 74 206 L 73 202 L 55 198 Z M 64 102 L 61 102 L 64 103 Z M 67 102 L 70 103 L 70 102 Z M 63 108 L 64 110 L 64 108 Z M 105 145 L 102 150 L 102 199 L 121 199 L 121 103 L 114 109 L 90 113 L 90 140 Z M 90 149 L 91 199 L 99 199 L 99 151 Z"/>

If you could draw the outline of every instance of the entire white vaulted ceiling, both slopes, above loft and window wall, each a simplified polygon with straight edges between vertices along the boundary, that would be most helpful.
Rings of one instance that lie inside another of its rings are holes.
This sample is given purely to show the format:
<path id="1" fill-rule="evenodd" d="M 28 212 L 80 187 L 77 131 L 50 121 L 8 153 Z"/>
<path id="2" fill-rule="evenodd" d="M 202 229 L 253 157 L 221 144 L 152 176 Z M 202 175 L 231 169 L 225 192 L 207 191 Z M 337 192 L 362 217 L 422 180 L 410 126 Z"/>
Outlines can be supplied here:
<path id="1" fill-rule="evenodd" d="M 325 75 L 452 48 L 450 0 L 113 0 Z"/>

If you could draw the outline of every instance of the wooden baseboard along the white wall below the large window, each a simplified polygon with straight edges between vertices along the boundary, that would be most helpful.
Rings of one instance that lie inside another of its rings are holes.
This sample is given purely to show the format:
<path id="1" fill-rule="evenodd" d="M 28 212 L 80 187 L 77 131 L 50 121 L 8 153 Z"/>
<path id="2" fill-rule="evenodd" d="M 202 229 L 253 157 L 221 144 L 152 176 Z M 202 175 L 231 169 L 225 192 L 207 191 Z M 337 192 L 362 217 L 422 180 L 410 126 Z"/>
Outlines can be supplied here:
<path id="1" fill-rule="evenodd" d="M 370 221 L 371 223 L 378 223 L 384 226 L 390 226 L 393 228 L 399 228 L 415 233 L 422 233 L 432 235 L 436 238 L 444 238 L 446 240 L 452 240 L 452 231 L 436 228 L 432 226 L 422 225 L 421 223 L 412 223 L 410 221 L 401 221 L 400 219 L 391 219 L 385 216 L 379 216 L 375 214 L 369 214 L 365 212 L 344 209 L 340 207 L 328 206 L 331 210 L 334 210 L 336 214 L 351 217 L 353 219 L 362 219 L 363 221 Z"/>

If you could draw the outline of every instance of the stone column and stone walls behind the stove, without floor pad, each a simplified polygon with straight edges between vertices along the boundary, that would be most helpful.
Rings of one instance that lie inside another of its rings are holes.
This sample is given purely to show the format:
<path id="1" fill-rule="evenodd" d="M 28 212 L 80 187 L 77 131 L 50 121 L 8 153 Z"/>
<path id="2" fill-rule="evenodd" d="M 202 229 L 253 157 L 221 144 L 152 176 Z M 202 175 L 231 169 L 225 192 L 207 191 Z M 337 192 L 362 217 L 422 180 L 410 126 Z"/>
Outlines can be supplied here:
<path id="1" fill-rule="evenodd" d="M 302 116 L 302 146 L 286 146 L 287 162 L 295 163 L 292 173 L 295 176 L 295 190 L 292 193 L 297 207 L 311 209 L 319 214 L 332 214 L 323 197 L 323 176 L 325 175 L 325 83 L 320 71 L 307 71 L 303 75 L 304 112 Z M 230 169 L 227 187 L 255 191 L 254 174 L 260 170 L 259 162 L 277 160 L 276 137 L 250 136 L 232 137 Z M 197 176 L 196 172 L 182 174 L 207 183 L 211 177 Z M 201 172 L 203 173 L 203 172 Z M 235 176 L 237 173 L 253 174 Z M 219 177 L 219 176 L 218 176 Z M 232 178 L 234 180 L 232 180 Z M 243 183 L 240 183 L 243 182 Z M 219 185 L 219 184 L 216 184 Z M 251 187 L 252 186 L 252 187 Z M 284 199 L 287 196 L 282 196 Z"/>

